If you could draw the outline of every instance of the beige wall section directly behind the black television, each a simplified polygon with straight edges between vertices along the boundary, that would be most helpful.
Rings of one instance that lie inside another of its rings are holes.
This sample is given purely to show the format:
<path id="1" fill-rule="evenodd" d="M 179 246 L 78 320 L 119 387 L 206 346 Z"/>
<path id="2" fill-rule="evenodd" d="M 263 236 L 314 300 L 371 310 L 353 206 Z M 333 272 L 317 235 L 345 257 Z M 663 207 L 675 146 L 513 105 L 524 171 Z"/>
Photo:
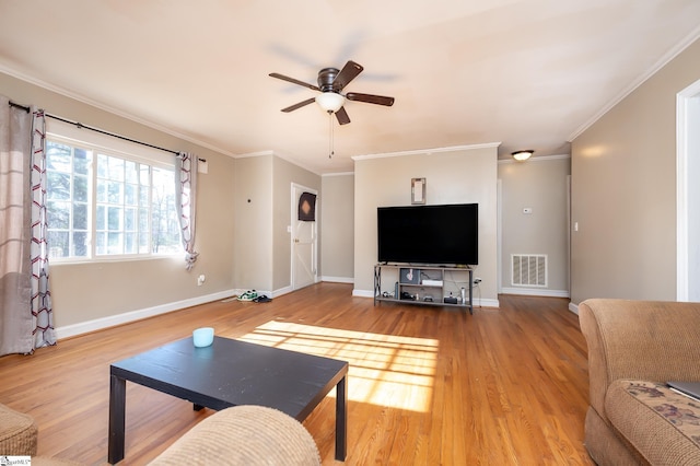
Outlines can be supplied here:
<path id="1" fill-rule="evenodd" d="M 376 264 L 376 208 L 410 205 L 411 178 L 425 178 L 429 205 L 479 203 L 481 304 L 498 306 L 498 144 L 433 153 L 355 159 L 354 293 L 372 296 Z"/>

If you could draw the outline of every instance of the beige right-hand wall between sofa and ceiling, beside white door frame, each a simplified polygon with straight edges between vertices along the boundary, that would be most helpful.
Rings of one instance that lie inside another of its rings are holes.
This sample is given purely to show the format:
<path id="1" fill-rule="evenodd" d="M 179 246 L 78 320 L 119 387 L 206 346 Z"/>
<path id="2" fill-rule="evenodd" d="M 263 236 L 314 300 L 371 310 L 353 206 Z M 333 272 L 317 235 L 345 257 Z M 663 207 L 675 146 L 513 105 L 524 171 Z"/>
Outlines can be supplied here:
<path id="1" fill-rule="evenodd" d="M 676 299 L 676 94 L 700 40 L 572 142 L 571 299 Z"/>

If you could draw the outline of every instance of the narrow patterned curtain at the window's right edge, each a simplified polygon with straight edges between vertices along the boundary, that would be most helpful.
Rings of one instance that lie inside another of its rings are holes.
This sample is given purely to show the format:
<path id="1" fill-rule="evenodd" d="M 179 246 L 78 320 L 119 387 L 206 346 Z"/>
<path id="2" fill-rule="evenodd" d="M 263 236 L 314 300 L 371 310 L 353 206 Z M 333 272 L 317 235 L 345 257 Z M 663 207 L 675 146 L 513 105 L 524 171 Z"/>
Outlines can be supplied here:
<path id="1" fill-rule="evenodd" d="M 199 255 L 195 252 L 197 162 L 196 155 L 180 152 L 177 156 L 178 170 L 175 175 L 175 205 L 177 206 L 180 237 L 185 247 L 185 268 L 187 270 L 191 270 Z"/>

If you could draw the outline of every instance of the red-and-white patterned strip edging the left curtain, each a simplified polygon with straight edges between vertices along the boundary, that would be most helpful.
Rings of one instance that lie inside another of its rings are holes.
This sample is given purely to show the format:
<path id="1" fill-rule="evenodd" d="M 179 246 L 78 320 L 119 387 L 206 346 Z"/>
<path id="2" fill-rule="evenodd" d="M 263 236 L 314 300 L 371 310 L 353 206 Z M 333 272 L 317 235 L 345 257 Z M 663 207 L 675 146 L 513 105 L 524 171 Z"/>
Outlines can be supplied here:
<path id="1" fill-rule="evenodd" d="M 48 287 L 48 219 L 46 213 L 46 117 L 33 108 L 32 121 L 32 333 L 34 348 L 56 345 Z"/>

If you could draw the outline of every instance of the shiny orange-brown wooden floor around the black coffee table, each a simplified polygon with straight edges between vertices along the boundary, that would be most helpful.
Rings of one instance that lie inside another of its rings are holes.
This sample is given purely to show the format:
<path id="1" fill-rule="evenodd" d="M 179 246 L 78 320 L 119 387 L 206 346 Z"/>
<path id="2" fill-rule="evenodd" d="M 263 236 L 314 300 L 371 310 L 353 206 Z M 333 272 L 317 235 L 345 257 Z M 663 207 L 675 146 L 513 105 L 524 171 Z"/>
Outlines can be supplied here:
<path id="1" fill-rule="evenodd" d="M 213 302 L 0 358 L 0 403 L 31 413 L 39 454 L 106 464 L 109 363 L 213 326 L 219 336 L 343 359 L 347 465 L 591 465 L 586 348 L 568 300 L 422 307 L 319 283 L 271 303 Z M 306 419 L 334 461 L 335 399 Z M 210 416 L 127 384 L 126 457 L 145 464 Z"/>

